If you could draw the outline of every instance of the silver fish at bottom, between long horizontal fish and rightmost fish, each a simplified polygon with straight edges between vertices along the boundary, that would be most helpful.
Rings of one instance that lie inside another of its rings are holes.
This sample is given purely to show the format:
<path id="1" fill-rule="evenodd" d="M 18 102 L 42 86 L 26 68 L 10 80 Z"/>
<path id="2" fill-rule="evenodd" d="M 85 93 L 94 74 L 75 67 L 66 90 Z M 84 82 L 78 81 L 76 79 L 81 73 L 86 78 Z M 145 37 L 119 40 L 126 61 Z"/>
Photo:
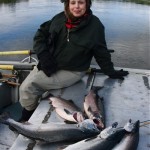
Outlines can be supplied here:
<path id="1" fill-rule="evenodd" d="M 102 130 L 99 135 L 71 144 L 63 148 L 63 150 L 112 150 L 126 133 L 132 130 L 130 129 L 129 131 L 124 127 L 117 128 L 117 125 L 118 123 L 114 122 L 112 126 Z"/>

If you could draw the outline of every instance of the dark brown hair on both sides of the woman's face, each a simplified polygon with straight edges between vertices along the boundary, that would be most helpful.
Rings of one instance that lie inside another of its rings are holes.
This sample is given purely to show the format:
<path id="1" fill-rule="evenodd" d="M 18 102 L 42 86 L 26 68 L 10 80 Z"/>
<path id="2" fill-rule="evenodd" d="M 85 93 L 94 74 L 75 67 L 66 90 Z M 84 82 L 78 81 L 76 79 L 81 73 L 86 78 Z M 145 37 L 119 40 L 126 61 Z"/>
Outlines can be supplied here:
<path id="1" fill-rule="evenodd" d="M 66 13 L 66 16 L 71 19 L 72 21 L 76 20 L 77 18 L 74 17 L 70 11 L 69 11 L 69 1 L 70 0 L 61 0 L 61 2 L 63 3 L 64 2 L 64 7 L 65 7 L 65 13 Z M 91 0 L 86 0 L 86 12 L 88 12 L 90 10 L 90 7 L 92 5 L 92 2 Z"/>

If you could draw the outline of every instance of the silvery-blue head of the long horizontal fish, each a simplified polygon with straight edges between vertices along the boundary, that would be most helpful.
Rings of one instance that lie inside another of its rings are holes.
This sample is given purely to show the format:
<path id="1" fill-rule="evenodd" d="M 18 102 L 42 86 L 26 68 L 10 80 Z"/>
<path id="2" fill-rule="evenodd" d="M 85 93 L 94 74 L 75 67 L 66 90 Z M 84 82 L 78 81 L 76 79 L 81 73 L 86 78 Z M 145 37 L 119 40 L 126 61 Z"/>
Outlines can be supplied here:
<path id="1" fill-rule="evenodd" d="M 78 127 L 83 132 L 95 132 L 95 133 L 100 132 L 100 130 L 97 128 L 97 125 L 93 122 L 92 119 L 85 119 L 84 121 L 78 124 Z"/>

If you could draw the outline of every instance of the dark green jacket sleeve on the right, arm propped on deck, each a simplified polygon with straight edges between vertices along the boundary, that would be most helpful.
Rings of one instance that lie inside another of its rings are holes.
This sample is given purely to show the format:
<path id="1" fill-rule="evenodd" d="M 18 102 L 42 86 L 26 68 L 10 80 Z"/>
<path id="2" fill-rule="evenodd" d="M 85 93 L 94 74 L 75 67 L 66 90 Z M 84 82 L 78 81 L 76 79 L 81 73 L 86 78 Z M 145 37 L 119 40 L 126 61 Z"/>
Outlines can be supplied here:
<path id="1" fill-rule="evenodd" d="M 107 49 L 104 26 L 101 25 L 98 30 L 98 41 L 94 47 L 94 57 L 104 74 L 110 75 L 114 72 L 114 65 L 111 61 L 111 55 Z"/>

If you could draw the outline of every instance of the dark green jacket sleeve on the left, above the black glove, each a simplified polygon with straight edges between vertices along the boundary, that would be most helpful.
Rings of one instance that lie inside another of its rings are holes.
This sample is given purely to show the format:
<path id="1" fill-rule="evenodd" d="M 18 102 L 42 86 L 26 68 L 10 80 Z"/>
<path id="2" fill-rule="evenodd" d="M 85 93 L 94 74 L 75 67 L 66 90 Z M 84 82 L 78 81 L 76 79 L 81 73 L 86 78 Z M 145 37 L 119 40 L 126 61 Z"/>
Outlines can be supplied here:
<path id="1" fill-rule="evenodd" d="M 33 50 L 39 56 L 42 52 L 48 51 L 49 27 L 51 20 L 44 22 L 37 30 L 33 39 Z"/>

